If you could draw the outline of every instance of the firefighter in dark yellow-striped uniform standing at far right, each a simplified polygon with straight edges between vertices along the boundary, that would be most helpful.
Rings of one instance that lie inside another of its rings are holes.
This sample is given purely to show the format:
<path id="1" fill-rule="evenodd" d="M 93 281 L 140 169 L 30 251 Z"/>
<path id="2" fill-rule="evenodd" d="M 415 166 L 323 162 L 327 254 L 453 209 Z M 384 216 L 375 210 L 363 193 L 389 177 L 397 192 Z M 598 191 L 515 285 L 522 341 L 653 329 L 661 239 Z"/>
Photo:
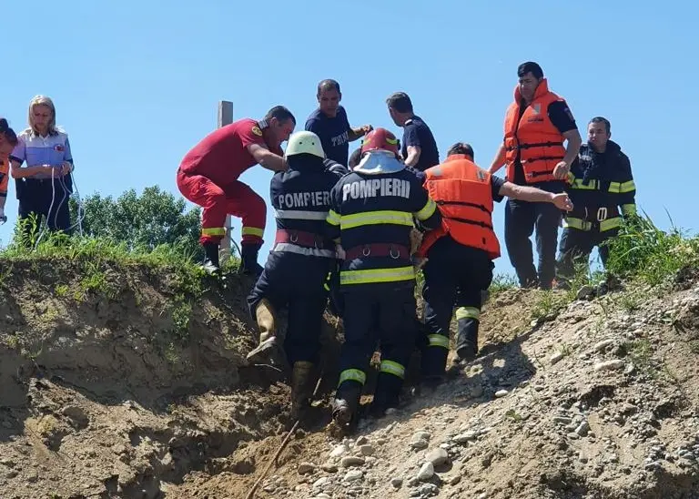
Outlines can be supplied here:
<path id="1" fill-rule="evenodd" d="M 593 117 L 587 127 L 587 144 L 568 175 L 567 191 L 575 209 L 563 219 L 563 233 L 556 266 L 556 281 L 568 288 L 576 260 L 587 264 L 595 246 L 606 265 L 609 248 L 602 244 L 613 238 L 622 217 L 636 214 L 636 186 L 631 162 L 612 137 L 609 120 Z"/>

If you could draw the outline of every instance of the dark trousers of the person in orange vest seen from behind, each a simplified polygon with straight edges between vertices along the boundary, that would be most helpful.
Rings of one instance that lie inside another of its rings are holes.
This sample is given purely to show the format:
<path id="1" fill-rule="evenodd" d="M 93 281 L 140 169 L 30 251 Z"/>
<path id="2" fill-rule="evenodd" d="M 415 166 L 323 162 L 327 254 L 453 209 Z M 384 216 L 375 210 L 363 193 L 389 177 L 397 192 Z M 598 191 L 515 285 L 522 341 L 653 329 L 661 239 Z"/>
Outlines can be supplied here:
<path id="1" fill-rule="evenodd" d="M 449 354 L 450 324 L 456 307 L 456 348 L 467 342 L 478 345 L 481 290 L 487 290 L 494 267 L 488 254 L 459 244 L 451 236 L 437 240 L 427 253 L 422 269 L 425 284 L 425 323 L 429 346 L 422 354 L 422 374 L 441 376 Z"/>

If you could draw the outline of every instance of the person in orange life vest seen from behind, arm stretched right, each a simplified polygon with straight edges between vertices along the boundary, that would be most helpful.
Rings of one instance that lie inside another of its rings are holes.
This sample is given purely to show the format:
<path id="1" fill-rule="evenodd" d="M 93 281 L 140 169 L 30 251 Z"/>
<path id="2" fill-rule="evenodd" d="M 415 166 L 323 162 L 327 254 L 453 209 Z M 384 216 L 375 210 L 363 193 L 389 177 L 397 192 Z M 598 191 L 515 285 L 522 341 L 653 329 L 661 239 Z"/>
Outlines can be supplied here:
<path id="1" fill-rule="evenodd" d="M 457 362 L 468 362 L 478 352 L 481 290 L 492 280 L 492 260 L 500 257 L 500 243 L 492 229 L 492 203 L 504 196 L 530 202 L 549 202 L 572 209 L 565 193 L 524 187 L 491 176 L 473 162 L 473 149 L 454 144 L 447 160 L 425 172 L 425 188 L 441 211 L 441 227 L 426 232 L 417 252 L 423 266 L 425 322 L 429 346 L 422 355 L 425 380 L 439 382 L 449 353 L 449 326 L 456 306 Z"/>

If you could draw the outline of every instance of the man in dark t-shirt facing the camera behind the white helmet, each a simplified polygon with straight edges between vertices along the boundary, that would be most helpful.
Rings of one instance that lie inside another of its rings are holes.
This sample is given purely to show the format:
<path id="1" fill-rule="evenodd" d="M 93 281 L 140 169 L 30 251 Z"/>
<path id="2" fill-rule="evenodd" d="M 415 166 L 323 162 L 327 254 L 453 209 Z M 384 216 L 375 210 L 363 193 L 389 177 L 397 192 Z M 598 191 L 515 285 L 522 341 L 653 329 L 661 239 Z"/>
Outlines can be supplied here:
<path id="1" fill-rule="evenodd" d="M 326 157 L 347 167 L 349 142 L 364 137 L 371 125 L 352 128 L 345 108 L 339 105 L 342 94 L 335 80 L 323 80 L 318 84 L 319 107 L 306 120 L 306 130 L 320 137 Z"/>

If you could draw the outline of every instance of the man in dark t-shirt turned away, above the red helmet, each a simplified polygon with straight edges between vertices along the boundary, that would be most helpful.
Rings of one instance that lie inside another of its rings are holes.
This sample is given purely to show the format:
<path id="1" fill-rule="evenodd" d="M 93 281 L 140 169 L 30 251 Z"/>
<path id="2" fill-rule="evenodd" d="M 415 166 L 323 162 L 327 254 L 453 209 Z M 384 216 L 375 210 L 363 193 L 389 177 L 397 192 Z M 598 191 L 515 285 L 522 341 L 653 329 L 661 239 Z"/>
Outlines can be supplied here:
<path id="1" fill-rule="evenodd" d="M 425 171 L 440 164 L 440 153 L 430 127 L 412 111 L 412 102 L 405 92 L 396 92 L 386 99 L 393 123 L 403 128 L 400 151 L 406 166 Z"/>

